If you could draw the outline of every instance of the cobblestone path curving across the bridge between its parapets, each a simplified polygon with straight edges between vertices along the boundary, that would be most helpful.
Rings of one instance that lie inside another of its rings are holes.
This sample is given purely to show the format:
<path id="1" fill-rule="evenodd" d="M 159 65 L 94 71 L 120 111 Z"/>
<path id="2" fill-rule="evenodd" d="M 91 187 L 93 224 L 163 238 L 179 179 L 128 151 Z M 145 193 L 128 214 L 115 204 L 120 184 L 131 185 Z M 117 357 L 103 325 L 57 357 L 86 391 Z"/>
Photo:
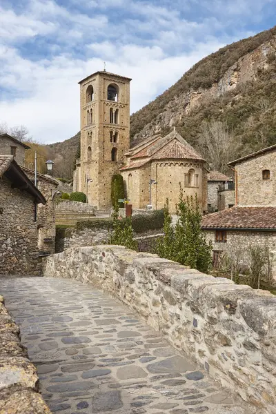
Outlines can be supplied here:
<path id="1" fill-rule="evenodd" d="M 69 279 L 0 279 L 41 393 L 61 414 L 249 414 L 119 301 Z"/>

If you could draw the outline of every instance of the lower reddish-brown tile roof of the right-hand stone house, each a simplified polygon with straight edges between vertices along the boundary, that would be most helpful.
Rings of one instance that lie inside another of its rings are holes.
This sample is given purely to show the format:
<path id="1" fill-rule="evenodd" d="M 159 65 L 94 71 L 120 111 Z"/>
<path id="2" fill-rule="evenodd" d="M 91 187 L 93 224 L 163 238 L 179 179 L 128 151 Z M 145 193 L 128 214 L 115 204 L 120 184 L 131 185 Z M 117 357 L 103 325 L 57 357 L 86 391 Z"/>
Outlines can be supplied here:
<path id="1" fill-rule="evenodd" d="M 205 230 L 215 228 L 276 230 L 276 207 L 233 207 L 208 214 L 201 221 Z"/>

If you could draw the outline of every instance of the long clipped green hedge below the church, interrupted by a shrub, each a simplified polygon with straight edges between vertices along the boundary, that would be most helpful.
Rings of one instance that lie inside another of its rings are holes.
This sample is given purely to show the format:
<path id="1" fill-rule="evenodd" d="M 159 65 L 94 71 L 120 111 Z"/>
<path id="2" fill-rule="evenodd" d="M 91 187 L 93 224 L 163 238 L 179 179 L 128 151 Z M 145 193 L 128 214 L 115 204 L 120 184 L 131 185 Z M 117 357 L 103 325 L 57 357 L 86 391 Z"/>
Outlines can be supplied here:
<path id="1" fill-rule="evenodd" d="M 126 219 L 121 219 L 121 224 L 124 225 Z M 146 233 L 148 230 L 158 230 L 164 225 L 164 210 L 153 210 L 148 214 L 139 214 L 132 217 L 132 228 L 135 233 Z M 84 230 L 85 228 L 112 230 L 113 221 L 111 217 L 107 219 L 95 219 L 78 221 L 77 229 Z"/>

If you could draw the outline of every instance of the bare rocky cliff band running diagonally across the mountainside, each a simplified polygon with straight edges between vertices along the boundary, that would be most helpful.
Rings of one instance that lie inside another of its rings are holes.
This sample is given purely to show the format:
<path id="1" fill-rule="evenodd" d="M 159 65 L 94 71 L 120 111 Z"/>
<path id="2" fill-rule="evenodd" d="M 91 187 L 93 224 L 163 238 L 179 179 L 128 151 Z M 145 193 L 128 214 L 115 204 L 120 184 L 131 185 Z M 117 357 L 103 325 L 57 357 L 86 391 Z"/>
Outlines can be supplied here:
<path id="1" fill-rule="evenodd" d="M 259 70 L 266 70 L 269 59 L 275 59 L 276 35 L 269 41 L 262 43 L 252 52 L 237 59 L 221 76 L 219 81 L 210 88 L 190 88 L 188 92 L 175 95 L 164 109 L 150 123 L 146 124 L 132 137 L 132 145 L 136 145 L 148 135 L 161 133 L 172 126 L 181 124 L 186 115 L 190 115 L 200 104 L 210 105 L 213 99 L 221 97 L 226 92 L 235 90 L 237 86 L 257 78 Z M 227 52 L 227 51 L 226 51 Z M 239 95 L 235 96 L 239 99 Z M 147 107 L 145 107 L 147 108 Z M 143 108 L 141 111 L 143 111 Z"/>

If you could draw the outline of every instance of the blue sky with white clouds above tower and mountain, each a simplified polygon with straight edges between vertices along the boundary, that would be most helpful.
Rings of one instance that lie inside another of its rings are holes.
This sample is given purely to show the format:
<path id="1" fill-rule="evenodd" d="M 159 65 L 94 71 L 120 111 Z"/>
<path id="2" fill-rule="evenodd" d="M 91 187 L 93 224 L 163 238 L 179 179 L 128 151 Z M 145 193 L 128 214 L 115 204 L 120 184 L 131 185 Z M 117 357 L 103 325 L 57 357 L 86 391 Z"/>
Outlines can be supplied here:
<path id="1" fill-rule="evenodd" d="M 79 85 L 132 78 L 131 112 L 211 52 L 275 25 L 276 0 L 0 0 L 0 124 L 43 143 L 79 130 Z"/>

